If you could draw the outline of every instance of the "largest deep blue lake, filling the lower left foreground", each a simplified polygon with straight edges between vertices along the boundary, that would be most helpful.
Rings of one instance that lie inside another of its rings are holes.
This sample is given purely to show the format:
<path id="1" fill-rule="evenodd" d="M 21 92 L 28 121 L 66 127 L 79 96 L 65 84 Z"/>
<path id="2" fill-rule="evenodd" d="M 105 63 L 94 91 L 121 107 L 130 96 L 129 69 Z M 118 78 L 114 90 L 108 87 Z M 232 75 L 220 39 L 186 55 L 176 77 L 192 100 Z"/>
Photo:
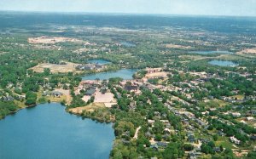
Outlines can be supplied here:
<path id="1" fill-rule="evenodd" d="M 71 115 L 57 103 L 18 111 L 0 121 L 0 158 L 108 158 L 112 124 Z"/>

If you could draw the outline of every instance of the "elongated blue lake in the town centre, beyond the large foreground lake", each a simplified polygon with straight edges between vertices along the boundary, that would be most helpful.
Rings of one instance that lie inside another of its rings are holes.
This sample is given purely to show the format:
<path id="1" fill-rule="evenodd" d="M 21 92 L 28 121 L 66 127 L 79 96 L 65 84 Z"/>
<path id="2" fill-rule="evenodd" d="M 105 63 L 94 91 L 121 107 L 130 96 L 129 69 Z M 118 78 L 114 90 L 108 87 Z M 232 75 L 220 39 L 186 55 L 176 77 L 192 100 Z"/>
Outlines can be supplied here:
<path id="1" fill-rule="evenodd" d="M 135 70 L 135 69 L 122 69 L 119 71 L 100 72 L 100 73 L 85 75 L 84 77 L 82 77 L 82 79 L 83 80 L 95 80 L 98 78 L 100 80 L 108 80 L 109 78 L 113 78 L 113 77 L 121 77 L 124 80 L 130 80 L 130 79 L 133 79 L 132 75 L 136 71 L 137 70 Z"/>

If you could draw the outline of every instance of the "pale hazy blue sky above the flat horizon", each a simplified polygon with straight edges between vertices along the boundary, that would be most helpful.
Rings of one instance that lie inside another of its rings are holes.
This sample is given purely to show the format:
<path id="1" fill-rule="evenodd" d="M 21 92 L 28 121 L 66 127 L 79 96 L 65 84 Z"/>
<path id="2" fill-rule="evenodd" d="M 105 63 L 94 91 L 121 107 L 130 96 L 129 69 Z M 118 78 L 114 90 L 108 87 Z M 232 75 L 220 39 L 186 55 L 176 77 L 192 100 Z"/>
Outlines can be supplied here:
<path id="1" fill-rule="evenodd" d="M 256 0 L 0 0 L 0 10 L 256 16 Z"/>

